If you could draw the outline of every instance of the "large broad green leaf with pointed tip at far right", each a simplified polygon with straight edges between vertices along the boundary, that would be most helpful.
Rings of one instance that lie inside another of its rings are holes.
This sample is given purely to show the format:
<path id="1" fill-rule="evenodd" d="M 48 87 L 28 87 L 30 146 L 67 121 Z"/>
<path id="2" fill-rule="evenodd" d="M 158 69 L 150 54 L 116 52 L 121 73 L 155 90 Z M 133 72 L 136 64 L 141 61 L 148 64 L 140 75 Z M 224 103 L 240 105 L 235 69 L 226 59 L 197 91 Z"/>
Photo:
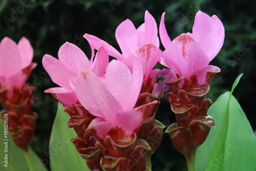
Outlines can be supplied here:
<path id="1" fill-rule="evenodd" d="M 231 92 L 241 76 L 234 81 Z M 222 94 L 208 110 L 216 125 L 198 148 L 196 170 L 255 170 L 255 136 L 231 92 Z"/>

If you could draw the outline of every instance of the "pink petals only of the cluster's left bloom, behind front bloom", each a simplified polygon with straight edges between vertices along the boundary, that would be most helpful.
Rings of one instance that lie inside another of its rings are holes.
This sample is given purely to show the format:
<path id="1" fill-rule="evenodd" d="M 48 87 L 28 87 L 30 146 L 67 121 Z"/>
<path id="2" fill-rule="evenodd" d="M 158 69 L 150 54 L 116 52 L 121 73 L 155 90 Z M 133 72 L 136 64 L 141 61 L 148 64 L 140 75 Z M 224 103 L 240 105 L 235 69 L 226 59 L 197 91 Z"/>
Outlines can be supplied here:
<path id="1" fill-rule="evenodd" d="M 94 50 L 91 61 L 81 49 L 74 44 L 66 42 L 59 48 L 59 60 L 51 55 L 42 58 L 42 65 L 50 75 L 53 82 L 60 87 L 50 88 L 46 93 L 51 93 L 59 101 L 69 107 L 77 102 L 74 81 L 77 74 L 86 68 L 98 76 L 102 76 L 109 63 L 108 53 L 101 47 L 94 58 Z"/>

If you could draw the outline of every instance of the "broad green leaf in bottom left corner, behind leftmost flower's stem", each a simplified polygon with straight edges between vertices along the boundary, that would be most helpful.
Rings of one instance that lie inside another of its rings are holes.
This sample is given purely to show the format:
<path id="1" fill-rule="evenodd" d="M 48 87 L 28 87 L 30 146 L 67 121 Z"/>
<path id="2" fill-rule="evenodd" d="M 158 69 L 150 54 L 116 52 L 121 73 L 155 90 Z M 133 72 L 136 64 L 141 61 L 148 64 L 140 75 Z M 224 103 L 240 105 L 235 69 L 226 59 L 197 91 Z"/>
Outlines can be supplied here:
<path id="1" fill-rule="evenodd" d="M 12 141 L 11 135 L 8 134 L 8 140 L 4 137 L 4 122 L 0 119 L 0 170 L 7 171 L 32 171 L 29 169 L 23 151 L 18 148 Z M 4 142 L 8 142 L 8 152 L 5 153 L 6 146 Z M 31 148 L 29 148 L 29 153 L 33 163 L 33 171 L 47 171 L 45 165 L 37 157 Z M 4 161 L 5 154 L 8 154 L 8 167 L 5 166 Z"/>

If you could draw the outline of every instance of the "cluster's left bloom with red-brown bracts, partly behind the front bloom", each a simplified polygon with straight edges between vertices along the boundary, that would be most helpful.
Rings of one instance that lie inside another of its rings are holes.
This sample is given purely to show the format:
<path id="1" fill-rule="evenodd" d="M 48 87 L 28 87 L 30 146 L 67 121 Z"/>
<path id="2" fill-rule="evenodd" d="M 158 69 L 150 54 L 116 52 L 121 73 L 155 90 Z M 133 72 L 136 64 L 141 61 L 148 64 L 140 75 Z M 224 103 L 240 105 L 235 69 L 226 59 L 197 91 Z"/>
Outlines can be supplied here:
<path id="1" fill-rule="evenodd" d="M 77 137 L 72 140 L 79 154 L 86 160 L 91 169 L 100 168 L 100 151 L 95 147 L 96 141 L 92 139 L 91 134 L 86 133 L 86 129 L 91 121 L 96 118 L 81 106 L 75 93 L 75 77 L 82 69 L 88 69 L 98 75 L 99 79 L 103 77 L 106 66 L 109 63 L 109 55 L 103 49 L 99 48 L 94 56 L 92 49 L 91 60 L 74 44 L 66 42 L 58 52 L 58 59 L 51 55 L 45 55 L 42 58 L 42 65 L 50 75 L 53 82 L 60 87 L 50 88 L 46 93 L 51 93 L 55 98 L 65 105 L 65 112 L 70 115 L 69 127 L 73 127 Z"/>

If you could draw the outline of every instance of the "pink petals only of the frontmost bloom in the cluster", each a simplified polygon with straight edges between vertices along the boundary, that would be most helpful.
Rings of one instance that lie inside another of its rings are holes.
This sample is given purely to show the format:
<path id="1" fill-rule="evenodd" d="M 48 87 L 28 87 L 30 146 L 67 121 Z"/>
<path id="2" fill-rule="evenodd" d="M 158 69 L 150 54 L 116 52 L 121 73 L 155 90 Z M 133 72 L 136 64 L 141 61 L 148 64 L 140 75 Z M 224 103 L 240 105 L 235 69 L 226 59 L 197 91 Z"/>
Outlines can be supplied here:
<path id="1" fill-rule="evenodd" d="M 104 140 L 109 135 L 114 142 L 120 139 L 134 142 L 140 126 L 157 102 L 134 108 L 142 79 L 142 67 L 135 58 L 132 72 L 123 62 L 112 60 L 106 68 L 104 81 L 87 69 L 78 74 L 77 97 L 85 109 L 98 117 L 88 129 L 93 129 L 99 139 Z"/>

